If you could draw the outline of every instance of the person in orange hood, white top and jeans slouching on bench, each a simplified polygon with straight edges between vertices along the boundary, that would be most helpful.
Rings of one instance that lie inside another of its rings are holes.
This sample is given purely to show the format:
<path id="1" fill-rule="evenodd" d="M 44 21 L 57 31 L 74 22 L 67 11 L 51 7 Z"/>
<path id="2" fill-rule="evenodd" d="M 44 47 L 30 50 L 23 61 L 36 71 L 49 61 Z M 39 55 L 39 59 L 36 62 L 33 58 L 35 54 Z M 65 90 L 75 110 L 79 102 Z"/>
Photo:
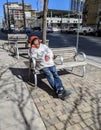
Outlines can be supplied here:
<path id="1" fill-rule="evenodd" d="M 36 59 L 37 69 L 45 74 L 50 86 L 59 98 L 68 97 L 71 91 L 65 90 L 63 87 L 53 60 L 52 50 L 47 45 L 42 44 L 37 36 L 31 36 L 30 45 L 30 55 Z"/>

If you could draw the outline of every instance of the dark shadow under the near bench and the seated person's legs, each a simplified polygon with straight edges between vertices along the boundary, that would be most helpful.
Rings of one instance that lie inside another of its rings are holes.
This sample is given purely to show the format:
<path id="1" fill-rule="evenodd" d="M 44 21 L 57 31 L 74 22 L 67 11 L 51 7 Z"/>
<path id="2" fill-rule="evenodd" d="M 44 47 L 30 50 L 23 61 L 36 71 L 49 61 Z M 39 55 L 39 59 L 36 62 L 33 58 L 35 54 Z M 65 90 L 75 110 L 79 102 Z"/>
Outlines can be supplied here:
<path id="1" fill-rule="evenodd" d="M 30 79 L 28 77 L 28 68 L 9 68 L 12 72 L 13 75 L 15 75 L 17 78 L 23 80 L 25 83 L 27 83 L 28 85 L 30 85 L 32 87 L 32 89 L 30 90 L 30 92 L 35 88 L 34 85 L 34 75 L 33 73 L 31 73 L 30 75 Z M 59 75 L 66 75 L 66 74 L 70 74 L 68 71 L 59 71 Z M 55 94 L 55 92 L 53 91 L 53 89 L 50 87 L 49 84 L 45 83 L 45 81 L 43 81 L 43 79 L 45 79 L 45 75 L 44 74 L 38 74 L 37 75 L 37 87 L 44 90 L 45 92 L 47 92 L 50 96 L 53 96 L 54 98 L 57 98 L 57 95 Z"/>

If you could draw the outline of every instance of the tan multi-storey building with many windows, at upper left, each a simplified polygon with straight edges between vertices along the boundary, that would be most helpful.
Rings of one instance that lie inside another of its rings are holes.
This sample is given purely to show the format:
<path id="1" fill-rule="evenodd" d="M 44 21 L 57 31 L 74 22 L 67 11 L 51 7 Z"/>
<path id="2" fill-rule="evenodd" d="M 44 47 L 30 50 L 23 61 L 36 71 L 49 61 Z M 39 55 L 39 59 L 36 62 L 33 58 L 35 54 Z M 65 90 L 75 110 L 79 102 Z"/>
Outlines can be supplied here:
<path id="1" fill-rule="evenodd" d="M 30 4 L 20 2 L 10 2 L 4 4 L 4 18 L 6 22 L 6 26 L 8 24 L 14 27 L 22 27 L 24 26 L 24 19 L 26 27 L 30 27 L 32 25 L 33 19 L 36 17 L 36 10 L 32 10 Z"/>

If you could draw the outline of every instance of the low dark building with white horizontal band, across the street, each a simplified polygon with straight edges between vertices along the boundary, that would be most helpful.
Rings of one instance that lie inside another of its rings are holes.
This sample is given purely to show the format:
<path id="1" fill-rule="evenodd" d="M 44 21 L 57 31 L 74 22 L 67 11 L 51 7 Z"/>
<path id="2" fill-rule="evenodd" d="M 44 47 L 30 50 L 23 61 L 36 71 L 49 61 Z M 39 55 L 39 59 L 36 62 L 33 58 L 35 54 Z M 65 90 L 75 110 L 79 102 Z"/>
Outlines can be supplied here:
<path id="1" fill-rule="evenodd" d="M 38 16 L 39 18 L 34 21 L 34 25 L 42 28 L 43 12 L 39 12 Z M 80 17 L 79 21 L 78 13 L 65 10 L 48 10 L 47 26 L 66 28 L 68 26 L 77 26 L 78 22 L 82 24 L 82 17 Z"/>

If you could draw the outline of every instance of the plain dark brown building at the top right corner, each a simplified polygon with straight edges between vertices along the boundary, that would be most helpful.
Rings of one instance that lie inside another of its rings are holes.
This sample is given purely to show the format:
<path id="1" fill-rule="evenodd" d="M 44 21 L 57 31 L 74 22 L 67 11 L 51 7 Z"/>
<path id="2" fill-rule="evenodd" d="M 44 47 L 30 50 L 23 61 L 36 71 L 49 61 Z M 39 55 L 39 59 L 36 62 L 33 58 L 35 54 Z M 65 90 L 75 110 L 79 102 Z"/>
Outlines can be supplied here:
<path id="1" fill-rule="evenodd" d="M 87 25 L 101 26 L 101 0 L 85 1 L 83 22 Z"/>

